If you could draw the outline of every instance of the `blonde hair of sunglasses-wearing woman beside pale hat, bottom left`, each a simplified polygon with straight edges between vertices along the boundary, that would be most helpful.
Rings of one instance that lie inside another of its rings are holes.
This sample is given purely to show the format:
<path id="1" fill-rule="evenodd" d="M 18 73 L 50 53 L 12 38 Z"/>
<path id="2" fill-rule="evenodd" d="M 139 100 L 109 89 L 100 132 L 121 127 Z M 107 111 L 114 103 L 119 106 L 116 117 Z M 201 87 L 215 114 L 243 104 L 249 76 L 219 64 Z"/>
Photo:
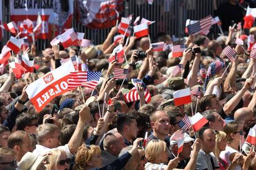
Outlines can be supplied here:
<path id="1" fill-rule="evenodd" d="M 57 164 L 61 158 L 61 154 L 66 155 L 66 152 L 64 150 L 60 149 L 53 149 L 51 150 L 51 154 L 48 155 L 49 158 L 49 164 L 47 164 L 47 169 L 57 169 Z"/>

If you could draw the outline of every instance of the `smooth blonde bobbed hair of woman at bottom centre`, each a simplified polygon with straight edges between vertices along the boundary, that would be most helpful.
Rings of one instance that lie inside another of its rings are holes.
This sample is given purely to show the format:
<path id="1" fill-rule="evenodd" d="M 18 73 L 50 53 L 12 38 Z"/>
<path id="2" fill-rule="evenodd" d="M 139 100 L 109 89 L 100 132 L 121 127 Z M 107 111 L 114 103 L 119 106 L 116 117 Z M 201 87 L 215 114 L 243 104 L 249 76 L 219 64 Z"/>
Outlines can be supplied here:
<path id="1" fill-rule="evenodd" d="M 163 140 L 153 139 L 150 140 L 145 149 L 145 156 L 148 161 L 155 161 L 163 155 L 164 152 L 166 152 L 165 142 Z"/>

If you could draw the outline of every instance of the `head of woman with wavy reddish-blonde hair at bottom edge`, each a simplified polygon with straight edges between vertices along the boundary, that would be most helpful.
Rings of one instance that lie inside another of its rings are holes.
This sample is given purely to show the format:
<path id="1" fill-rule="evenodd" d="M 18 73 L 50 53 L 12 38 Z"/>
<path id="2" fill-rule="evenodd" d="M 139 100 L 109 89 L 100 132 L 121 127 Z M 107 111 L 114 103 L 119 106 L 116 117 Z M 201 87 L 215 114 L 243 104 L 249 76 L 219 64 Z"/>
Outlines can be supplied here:
<path id="1" fill-rule="evenodd" d="M 100 147 L 82 144 L 75 156 L 74 170 L 100 168 L 102 166 Z"/>

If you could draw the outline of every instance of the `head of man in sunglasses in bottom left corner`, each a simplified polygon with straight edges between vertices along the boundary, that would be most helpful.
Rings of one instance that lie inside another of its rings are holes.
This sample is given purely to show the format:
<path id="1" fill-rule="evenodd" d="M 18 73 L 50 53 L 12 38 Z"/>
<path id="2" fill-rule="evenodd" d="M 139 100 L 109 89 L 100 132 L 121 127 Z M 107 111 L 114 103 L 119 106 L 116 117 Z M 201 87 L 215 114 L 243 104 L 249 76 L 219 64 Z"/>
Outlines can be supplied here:
<path id="1" fill-rule="evenodd" d="M 0 169 L 16 169 L 16 153 L 11 148 L 0 148 Z"/>

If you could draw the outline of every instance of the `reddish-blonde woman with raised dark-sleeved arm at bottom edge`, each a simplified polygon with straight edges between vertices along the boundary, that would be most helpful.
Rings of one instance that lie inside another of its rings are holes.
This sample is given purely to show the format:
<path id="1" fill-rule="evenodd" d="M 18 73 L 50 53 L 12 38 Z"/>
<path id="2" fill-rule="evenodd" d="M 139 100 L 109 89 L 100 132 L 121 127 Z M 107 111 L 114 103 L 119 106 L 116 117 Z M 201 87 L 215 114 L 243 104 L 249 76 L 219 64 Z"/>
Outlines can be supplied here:
<path id="1" fill-rule="evenodd" d="M 102 158 L 100 147 L 96 145 L 85 145 L 79 147 L 75 156 L 74 170 L 103 170 L 103 169 L 122 169 L 126 166 L 131 156 L 138 152 L 138 144 L 143 138 L 137 138 L 134 141 L 132 149 L 121 157 L 117 158 L 113 163 L 102 167 Z"/>

